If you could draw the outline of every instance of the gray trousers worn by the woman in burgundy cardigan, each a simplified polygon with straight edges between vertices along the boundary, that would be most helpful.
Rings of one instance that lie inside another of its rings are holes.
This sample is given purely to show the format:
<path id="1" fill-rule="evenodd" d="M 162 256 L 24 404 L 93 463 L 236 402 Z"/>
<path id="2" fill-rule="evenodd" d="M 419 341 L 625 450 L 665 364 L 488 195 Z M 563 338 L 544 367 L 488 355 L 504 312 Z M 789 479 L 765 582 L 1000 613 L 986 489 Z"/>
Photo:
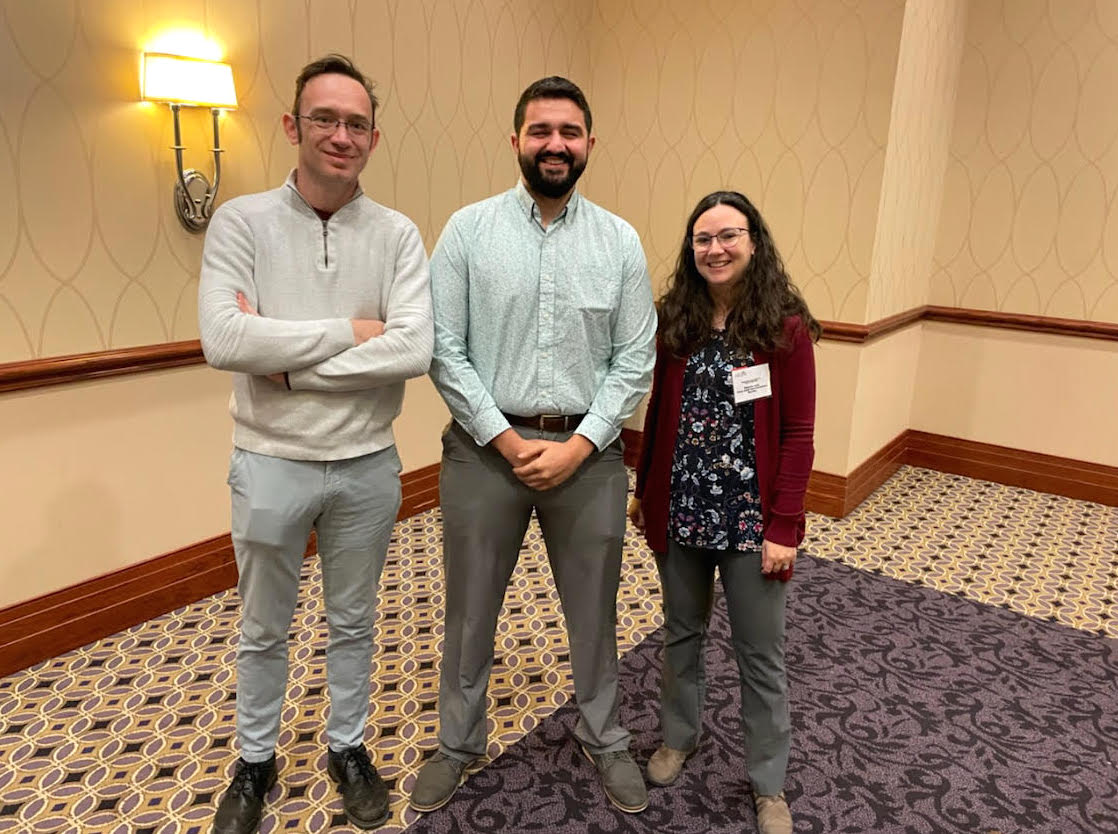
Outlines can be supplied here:
<path id="1" fill-rule="evenodd" d="M 699 745 L 705 696 L 702 644 L 717 567 L 741 675 L 749 778 L 758 794 L 780 793 L 792 746 L 784 665 L 787 584 L 765 578 L 758 551 L 705 550 L 669 541 L 667 552 L 656 555 L 656 566 L 664 598 L 660 712 L 664 743 L 676 750 Z"/>

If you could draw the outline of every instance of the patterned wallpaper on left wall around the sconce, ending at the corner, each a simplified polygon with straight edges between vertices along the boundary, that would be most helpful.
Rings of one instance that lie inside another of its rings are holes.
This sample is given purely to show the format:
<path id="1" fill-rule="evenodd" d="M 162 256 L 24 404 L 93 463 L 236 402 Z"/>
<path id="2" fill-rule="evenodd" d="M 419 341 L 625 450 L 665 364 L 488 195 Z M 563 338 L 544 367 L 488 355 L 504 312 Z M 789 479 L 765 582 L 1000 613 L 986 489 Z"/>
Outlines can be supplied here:
<path id="1" fill-rule="evenodd" d="M 171 208 L 171 119 L 139 98 L 139 55 L 170 28 L 233 64 L 221 199 L 278 184 L 294 78 L 339 50 L 378 84 L 382 140 L 362 182 L 428 246 L 464 202 L 508 188 L 517 96 L 586 77 L 587 2 L 7 0 L 0 6 L 0 362 L 197 338 L 201 237 Z M 210 170 L 209 112 L 183 111 L 187 165 Z"/>

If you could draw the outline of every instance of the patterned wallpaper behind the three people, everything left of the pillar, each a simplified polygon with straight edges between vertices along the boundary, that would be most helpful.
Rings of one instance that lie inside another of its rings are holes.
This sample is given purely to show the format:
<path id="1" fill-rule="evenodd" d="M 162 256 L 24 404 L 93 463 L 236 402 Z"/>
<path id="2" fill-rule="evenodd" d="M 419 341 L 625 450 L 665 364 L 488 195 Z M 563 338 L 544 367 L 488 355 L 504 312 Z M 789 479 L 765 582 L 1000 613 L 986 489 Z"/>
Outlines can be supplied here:
<path id="1" fill-rule="evenodd" d="M 428 246 L 456 207 L 515 179 L 530 80 L 580 80 L 599 142 L 593 199 L 641 231 L 654 279 L 693 202 L 746 191 L 822 318 L 864 315 L 901 0 L 7 0 L 0 19 L 0 361 L 192 339 L 201 240 L 171 210 L 171 120 L 138 103 L 138 56 L 199 29 L 234 66 L 221 198 L 294 158 L 278 116 L 330 49 L 378 82 L 364 184 Z M 718 25 L 721 20 L 722 25 Z M 208 113 L 184 111 L 208 171 Z"/>

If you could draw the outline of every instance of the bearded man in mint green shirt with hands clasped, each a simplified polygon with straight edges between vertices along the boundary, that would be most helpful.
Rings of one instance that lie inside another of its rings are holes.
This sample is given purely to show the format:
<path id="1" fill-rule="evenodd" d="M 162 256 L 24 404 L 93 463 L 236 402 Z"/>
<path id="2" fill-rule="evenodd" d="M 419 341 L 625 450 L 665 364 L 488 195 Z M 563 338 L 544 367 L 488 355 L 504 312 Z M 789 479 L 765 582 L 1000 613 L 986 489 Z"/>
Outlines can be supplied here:
<path id="1" fill-rule="evenodd" d="M 485 755 L 496 619 L 533 509 L 567 620 L 575 737 L 614 805 L 648 803 L 617 715 L 618 435 L 648 387 L 656 314 L 636 231 L 575 190 L 590 124 L 571 82 L 529 86 L 511 136 L 520 182 L 455 212 L 432 256 L 432 379 L 454 421 L 439 474 L 439 749 L 411 790 L 416 811 L 446 804 Z"/>

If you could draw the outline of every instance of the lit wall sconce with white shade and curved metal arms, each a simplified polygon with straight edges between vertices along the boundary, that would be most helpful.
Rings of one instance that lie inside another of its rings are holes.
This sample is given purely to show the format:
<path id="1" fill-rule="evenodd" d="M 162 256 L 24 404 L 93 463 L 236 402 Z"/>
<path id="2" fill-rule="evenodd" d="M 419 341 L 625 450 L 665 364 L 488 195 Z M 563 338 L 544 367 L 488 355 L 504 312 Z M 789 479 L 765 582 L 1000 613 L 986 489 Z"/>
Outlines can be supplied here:
<path id="1" fill-rule="evenodd" d="M 141 96 L 149 102 L 171 105 L 174 117 L 174 212 L 189 231 L 201 231 L 214 214 L 214 199 L 221 181 L 221 141 L 218 135 L 218 112 L 237 106 L 233 86 L 233 67 L 216 60 L 188 58 L 182 55 L 144 53 Z M 214 116 L 214 184 L 206 174 L 192 168 L 182 170 L 182 138 L 179 131 L 179 108 L 209 107 Z"/>

